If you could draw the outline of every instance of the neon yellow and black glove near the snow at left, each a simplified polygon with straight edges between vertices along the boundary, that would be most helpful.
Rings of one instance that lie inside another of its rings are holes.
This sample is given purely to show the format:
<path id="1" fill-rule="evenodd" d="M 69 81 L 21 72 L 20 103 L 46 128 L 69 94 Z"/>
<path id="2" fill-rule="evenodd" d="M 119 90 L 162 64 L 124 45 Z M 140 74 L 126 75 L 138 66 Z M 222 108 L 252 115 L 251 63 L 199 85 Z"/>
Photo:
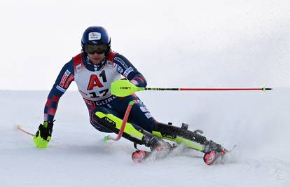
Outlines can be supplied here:
<path id="1" fill-rule="evenodd" d="M 43 125 L 39 125 L 39 130 L 33 137 L 34 144 L 38 148 L 47 148 L 48 142 L 51 139 L 51 133 L 53 132 L 53 122 L 44 121 Z"/>

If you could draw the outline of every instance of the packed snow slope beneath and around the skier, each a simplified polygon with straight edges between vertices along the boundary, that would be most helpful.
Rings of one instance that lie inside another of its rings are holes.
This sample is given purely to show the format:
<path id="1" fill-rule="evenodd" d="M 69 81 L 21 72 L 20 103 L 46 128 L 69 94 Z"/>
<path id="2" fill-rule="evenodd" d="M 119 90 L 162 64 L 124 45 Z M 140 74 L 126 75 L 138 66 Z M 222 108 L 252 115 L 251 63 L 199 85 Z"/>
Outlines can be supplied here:
<path id="1" fill-rule="evenodd" d="M 234 151 L 208 166 L 195 151 L 136 164 L 126 139 L 104 142 L 78 92 L 60 100 L 49 147 L 36 132 L 48 91 L 0 91 L 0 186 L 290 186 L 290 88 L 236 92 L 139 92 L 153 116 L 204 131 Z"/>

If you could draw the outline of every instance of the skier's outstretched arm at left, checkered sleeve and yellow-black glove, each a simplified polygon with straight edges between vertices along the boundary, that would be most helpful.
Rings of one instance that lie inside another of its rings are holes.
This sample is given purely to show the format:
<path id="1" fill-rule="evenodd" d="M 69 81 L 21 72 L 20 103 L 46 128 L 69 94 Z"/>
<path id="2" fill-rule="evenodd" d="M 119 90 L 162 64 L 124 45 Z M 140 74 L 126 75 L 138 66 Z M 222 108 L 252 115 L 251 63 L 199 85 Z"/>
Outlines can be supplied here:
<path id="1" fill-rule="evenodd" d="M 48 95 L 44 107 L 43 124 L 39 125 L 39 130 L 34 136 L 34 144 L 37 147 L 46 148 L 48 146 L 53 132 L 53 118 L 57 110 L 57 104 L 72 81 L 74 81 L 74 64 L 71 61 L 64 65 Z"/>

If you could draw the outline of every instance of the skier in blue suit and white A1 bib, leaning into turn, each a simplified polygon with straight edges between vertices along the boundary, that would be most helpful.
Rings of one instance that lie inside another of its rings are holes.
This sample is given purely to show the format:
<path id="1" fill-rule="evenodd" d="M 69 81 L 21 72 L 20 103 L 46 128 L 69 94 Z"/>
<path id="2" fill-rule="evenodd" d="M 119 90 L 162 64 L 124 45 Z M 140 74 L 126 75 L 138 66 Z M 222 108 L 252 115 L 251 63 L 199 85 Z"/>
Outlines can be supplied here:
<path id="1" fill-rule="evenodd" d="M 90 123 L 101 132 L 118 133 L 119 129 L 114 123 L 122 121 L 128 103 L 134 100 L 135 104 L 128 118 L 132 128 L 125 130 L 123 137 L 135 144 L 149 146 L 152 151 L 169 150 L 172 146 L 160 137 L 178 141 L 176 137 L 180 136 L 202 144 L 200 151 L 206 152 L 213 147 L 221 148 L 218 144 L 210 144 L 210 141 L 200 134 L 186 130 L 186 127 L 179 128 L 158 123 L 144 103 L 134 94 L 127 97 L 111 95 L 111 83 L 123 77 L 138 87 L 146 87 L 147 83 L 144 76 L 127 58 L 111 50 L 111 39 L 104 27 L 92 26 L 85 29 L 81 47 L 81 53 L 64 64 L 49 92 L 44 108 L 43 124 L 39 125 L 34 136 L 37 147 L 48 146 L 52 137 L 57 104 L 71 82 L 75 81 L 88 107 Z M 109 114 L 110 120 L 107 116 Z"/>

